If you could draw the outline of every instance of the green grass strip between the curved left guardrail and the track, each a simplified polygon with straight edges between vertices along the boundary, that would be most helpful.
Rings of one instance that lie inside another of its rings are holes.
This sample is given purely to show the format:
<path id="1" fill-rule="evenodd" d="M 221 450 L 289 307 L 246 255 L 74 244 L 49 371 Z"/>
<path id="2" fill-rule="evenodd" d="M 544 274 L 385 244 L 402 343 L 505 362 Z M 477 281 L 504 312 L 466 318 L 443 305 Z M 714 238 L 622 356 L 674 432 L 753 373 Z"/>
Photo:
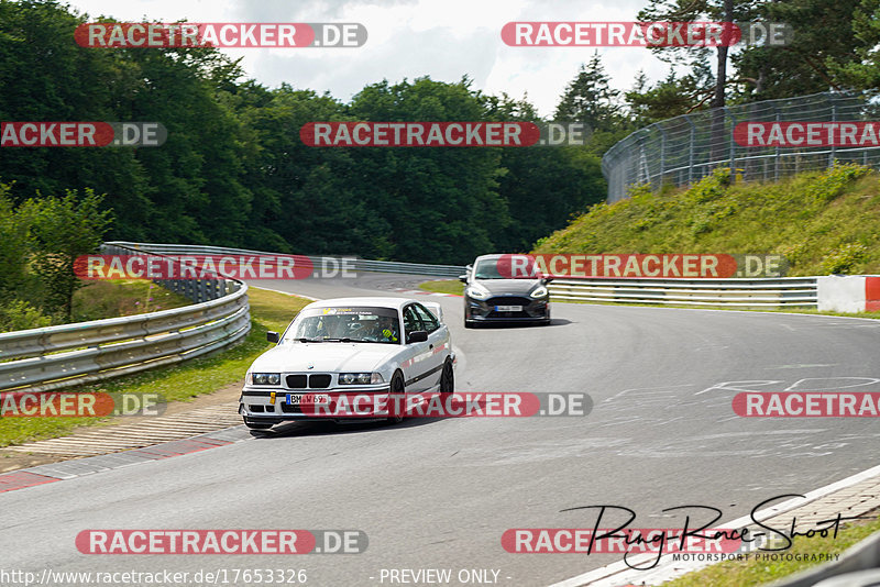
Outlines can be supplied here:
<path id="1" fill-rule="evenodd" d="M 272 346 L 266 331 L 280 331 L 310 300 L 251 288 L 251 332 L 221 353 L 65 391 L 160 394 L 167 401 L 187 401 L 244 378 L 251 363 Z M 0 446 L 64 435 L 80 425 L 108 423 L 107 418 L 2 418 Z"/>

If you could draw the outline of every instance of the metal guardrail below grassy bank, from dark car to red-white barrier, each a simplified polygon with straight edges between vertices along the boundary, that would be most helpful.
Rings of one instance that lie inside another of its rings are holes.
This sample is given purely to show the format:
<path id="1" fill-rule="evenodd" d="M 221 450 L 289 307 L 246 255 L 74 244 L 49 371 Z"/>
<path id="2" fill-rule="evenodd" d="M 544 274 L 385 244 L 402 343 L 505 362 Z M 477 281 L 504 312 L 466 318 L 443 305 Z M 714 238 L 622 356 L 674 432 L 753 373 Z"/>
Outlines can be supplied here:
<path id="1" fill-rule="evenodd" d="M 556 279 L 558 300 L 708 307 L 815 307 L 815 277 L 761 279 Z"/>

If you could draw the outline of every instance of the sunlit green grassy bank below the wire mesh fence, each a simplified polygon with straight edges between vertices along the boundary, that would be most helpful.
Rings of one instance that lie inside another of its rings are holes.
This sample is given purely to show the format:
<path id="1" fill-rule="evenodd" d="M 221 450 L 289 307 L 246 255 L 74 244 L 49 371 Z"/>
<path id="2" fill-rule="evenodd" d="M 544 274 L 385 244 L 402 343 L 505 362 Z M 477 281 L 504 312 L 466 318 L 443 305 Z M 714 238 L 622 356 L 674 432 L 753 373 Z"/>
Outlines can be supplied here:
<path id="1" fill-rule="evenodd" d="M 541 239 L 535 253 L 781 254 L 791 276 L 880 273 L 880 174 L 838 165 L 732 185 L 721 169 L 688 189 L 636 188 Z"/>

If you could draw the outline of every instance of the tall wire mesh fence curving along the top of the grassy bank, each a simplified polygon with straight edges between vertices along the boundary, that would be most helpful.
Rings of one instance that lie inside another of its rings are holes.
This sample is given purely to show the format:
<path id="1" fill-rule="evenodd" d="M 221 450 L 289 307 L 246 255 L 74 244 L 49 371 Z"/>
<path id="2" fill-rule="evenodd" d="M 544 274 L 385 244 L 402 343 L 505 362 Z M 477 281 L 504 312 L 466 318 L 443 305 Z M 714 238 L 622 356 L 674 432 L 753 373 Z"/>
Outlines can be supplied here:
<path id="1" fill-rule="evenodd" d="M 640 129 L 602 157 L 608 203 L 628 197 L 634 185 L 683 186 L 716 167 L 735 170 L 737 180 L 777 180 L 824 169 L 835 160 L 880 167 L 880 147 L 741 146 L 734 140 L 740 122 L 843 122 L 877 119 L 877 104 L 861 93 L 823 92 L 683 114 Z"/>

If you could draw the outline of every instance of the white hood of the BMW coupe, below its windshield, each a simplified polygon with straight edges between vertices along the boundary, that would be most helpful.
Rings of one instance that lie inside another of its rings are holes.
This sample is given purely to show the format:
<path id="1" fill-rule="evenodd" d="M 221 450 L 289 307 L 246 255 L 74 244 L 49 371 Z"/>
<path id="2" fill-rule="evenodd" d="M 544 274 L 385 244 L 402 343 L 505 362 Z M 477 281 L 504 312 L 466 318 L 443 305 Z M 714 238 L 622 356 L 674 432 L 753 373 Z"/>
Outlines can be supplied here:
<path id="1" fill-rule="evenodd" d="M 254 373 L 367 373 L 400 351 L 397 344 L 382 343 L 288 343 L 260 355 Z M 309 368 L 311 365 L 311 368 Z"/>

